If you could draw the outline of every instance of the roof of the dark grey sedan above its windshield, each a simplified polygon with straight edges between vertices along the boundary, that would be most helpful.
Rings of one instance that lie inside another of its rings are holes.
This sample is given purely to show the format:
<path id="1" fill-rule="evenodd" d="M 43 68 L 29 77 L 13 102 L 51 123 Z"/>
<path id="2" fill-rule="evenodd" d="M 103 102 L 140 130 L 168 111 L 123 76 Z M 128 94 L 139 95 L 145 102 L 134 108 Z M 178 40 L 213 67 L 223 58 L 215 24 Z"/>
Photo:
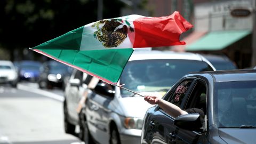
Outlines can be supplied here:
<path id="1" fill-rule="evenodd" d="M 191 73 L 188 75 L 210 75 L 214 82 L 256 81 L 255 69 L 217 70 Z"/>

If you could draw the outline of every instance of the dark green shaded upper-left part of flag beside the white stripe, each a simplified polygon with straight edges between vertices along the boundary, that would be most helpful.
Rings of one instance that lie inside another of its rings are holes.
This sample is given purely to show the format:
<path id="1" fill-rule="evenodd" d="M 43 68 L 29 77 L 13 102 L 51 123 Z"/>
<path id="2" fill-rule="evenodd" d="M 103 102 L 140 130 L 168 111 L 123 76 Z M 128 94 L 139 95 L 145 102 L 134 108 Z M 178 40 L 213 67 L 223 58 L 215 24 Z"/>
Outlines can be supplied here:
<path id="1" fill-rule="evenodd" d="M 45 43 L 33 47 L 33 49 L 52 49 L 52 50 L 79 50 L 82 40 L 83 27 L 51 39 Z"/>

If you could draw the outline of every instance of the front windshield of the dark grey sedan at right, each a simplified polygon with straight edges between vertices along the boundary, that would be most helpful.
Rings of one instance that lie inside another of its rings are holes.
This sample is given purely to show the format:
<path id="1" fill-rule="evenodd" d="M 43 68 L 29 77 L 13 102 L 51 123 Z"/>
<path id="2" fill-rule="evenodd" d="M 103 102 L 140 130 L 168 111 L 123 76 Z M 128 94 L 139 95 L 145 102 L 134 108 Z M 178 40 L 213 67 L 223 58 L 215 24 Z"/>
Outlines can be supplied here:
<path id="1" fill-rule="evenodd" d="M 214 121 L 218 127 L 256 126 L 256 82 L 214 84 Z"/>

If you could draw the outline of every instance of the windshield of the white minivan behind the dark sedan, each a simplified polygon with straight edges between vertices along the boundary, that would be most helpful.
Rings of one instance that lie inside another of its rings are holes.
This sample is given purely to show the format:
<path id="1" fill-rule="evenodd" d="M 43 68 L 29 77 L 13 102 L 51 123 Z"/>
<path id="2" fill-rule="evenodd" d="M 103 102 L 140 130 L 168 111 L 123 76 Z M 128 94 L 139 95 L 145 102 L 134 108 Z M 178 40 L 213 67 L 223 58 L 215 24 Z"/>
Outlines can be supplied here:
<path id="1" fill-rule="evenodd" d="M 120 78 L 120 84 L 135 92 L 167 92 L 182 76 L 195 71 L 212 68 L 203 61 L 196 60 L 135 60 L 129 61 Z M 122 97 L 133 93 L 121 89 Z M 163 95 L 162 94 L 162 95 Z"/>

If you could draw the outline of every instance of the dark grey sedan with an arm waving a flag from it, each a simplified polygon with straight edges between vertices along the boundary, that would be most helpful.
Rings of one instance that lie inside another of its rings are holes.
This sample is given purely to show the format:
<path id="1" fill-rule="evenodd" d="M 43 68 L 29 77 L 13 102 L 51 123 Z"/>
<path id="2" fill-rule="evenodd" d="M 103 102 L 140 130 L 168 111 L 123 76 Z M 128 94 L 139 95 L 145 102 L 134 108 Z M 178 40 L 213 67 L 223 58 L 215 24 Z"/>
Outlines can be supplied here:
<path id="1" fill-rule="evenodd" d="M 181 109 L 204 109 L 204 121 L 199 114 L 175 118 L 155 105 L 145 115 L 141 143 L 254 143 L 255 95 L 256 70 L 188 74 L 163 99 Z"/>

